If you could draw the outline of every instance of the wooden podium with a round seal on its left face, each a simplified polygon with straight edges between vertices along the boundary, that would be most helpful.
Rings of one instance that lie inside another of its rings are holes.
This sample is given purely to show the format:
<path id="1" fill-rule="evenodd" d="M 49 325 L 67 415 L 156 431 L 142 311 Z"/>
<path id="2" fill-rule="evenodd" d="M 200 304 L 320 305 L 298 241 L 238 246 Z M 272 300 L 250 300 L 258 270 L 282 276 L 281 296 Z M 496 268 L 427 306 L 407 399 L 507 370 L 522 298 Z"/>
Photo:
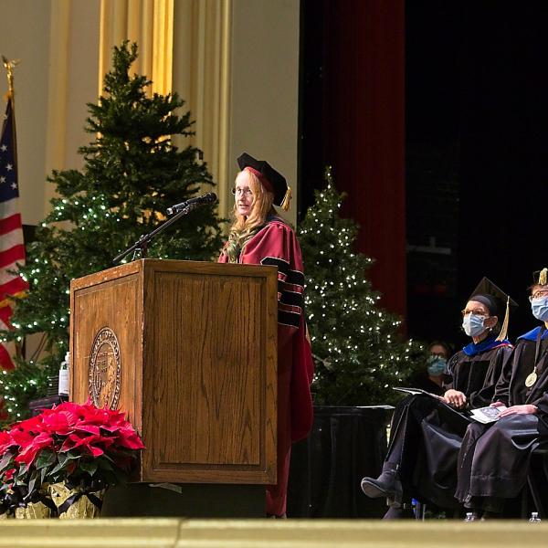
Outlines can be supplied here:
<path id="1" fill-rule="evenodd" d="M 70 399 L 127 412 L 137 481 L 276 483 L 277 291 L 275 267 L 158 259 L 72 281 Z"/>

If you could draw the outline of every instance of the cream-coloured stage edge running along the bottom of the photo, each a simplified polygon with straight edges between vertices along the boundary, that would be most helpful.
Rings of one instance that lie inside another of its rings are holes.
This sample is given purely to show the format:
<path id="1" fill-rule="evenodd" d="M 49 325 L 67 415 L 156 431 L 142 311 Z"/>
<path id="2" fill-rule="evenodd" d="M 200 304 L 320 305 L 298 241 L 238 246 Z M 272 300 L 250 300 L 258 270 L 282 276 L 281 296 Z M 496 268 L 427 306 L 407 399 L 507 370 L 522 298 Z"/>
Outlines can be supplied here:
<path id="1" fill-rule="evenodd" d="M 229 501 L 227 501 L 229 503 Z M 0 547 L 103 548 L 207 547 L 545 547 L 548 521 L 541 523 L 383 522 L 367 520 L 6 520 Z"/>

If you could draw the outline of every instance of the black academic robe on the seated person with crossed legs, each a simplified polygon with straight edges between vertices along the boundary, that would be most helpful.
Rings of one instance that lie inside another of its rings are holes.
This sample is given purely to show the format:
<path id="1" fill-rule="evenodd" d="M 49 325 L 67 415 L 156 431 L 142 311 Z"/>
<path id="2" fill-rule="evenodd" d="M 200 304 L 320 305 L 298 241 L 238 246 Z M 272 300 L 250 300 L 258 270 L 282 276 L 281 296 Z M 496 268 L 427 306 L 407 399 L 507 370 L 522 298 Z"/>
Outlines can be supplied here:
<path id="1" fill-rule="evenodd" d="M 487 350 L 475 352 L 485 346 Z M 448 363 L 446 389 L 467 396 L 472 408 L 489 405 L 502 369 L 507 366 L 512 347 L 494 339 L 469 345 Z M 386 461 L 398 465 L 406 496 L 454 508 L 457 485 L 457 458 L 470 419 L 439 399 L 411 395 L 395 408 Z"/>

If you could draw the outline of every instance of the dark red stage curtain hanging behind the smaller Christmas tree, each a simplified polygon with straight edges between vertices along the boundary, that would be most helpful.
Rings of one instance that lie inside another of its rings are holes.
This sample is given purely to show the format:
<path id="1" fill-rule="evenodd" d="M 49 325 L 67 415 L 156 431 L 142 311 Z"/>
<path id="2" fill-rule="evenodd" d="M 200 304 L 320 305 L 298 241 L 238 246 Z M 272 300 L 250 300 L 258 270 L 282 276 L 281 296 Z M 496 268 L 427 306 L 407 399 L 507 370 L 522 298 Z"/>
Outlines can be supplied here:
<path id="1" fill-rule="evenodd" d="M 324 9 L 323 156 L 342 215 L 360 227 L 358 250 L 377 260 L 374 288 L 406 313 L 405 5 L 327 0 Z"/>

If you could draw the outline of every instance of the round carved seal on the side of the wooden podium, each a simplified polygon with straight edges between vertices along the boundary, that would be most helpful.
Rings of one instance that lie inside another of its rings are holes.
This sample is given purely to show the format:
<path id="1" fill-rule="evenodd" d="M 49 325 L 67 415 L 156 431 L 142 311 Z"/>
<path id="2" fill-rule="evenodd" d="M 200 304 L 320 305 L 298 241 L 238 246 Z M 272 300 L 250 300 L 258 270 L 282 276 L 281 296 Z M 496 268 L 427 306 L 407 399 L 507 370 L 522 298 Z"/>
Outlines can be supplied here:
<path id="1" fill-rule="evenodd" d="M 121 357 L 116 334 L 103 327 L 90 352 L 90 398 L 93 405 L 116 409 L 120 399 Z"/>

